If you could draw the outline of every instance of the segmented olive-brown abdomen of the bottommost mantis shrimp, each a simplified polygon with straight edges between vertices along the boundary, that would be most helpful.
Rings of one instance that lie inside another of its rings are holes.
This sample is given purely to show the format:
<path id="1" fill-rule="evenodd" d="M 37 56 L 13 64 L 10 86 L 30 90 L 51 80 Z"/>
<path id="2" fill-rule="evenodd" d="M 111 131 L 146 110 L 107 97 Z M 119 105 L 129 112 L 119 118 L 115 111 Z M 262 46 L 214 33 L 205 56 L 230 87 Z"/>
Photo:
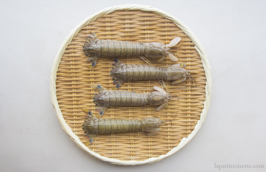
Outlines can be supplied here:
<path id="1" fill-rule="evenodd" d="M 134 132 L 141 129 L 138 119 L 95 119 L 93 123 L 95 134 L 113 134 L 120 132 Z"/>

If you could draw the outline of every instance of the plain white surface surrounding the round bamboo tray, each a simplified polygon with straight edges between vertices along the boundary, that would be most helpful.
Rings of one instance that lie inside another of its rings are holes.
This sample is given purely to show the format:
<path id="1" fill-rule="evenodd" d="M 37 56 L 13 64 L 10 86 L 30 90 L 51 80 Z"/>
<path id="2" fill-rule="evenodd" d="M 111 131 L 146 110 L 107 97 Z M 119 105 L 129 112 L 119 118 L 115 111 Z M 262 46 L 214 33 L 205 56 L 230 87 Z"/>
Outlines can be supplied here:
<path id="1" fill-rule="evenodd" d="M 119 166 L 81 150 L 60 126 L 50 98 L 53 60 L 68 33 L 103 8 L 135 3 L 183 21 L 212 69 L 210 109 L 176 154 Z M 265 171 L 265 1 L 0 1 L 1 171 Z M 264 165 L 217 169 L 215 165 Z"/>

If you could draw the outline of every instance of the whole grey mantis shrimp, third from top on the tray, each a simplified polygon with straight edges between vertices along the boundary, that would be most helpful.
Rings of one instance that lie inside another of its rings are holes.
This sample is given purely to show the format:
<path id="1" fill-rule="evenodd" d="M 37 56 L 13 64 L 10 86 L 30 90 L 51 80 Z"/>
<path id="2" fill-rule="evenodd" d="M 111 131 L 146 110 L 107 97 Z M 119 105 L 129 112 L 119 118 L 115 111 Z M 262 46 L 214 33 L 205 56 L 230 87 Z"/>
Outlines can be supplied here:
<path id="1" fill-rule="evenodd" d="M 99 105 L 96 111 L 100 111 L 102 115 L 109 107 L 121 106 L 145 106 L 145 105 L 160 105 L 156 110 L 159 111 L 168 105 L 168 101 L 172 98 L 170 91 L 165 92 L 162 88 L 154 86 L 157 91 L 149 93 L 136 93 L 130 91 L 107 91 L 101 85 L 93 84 L 92 87 L 97 88 L 100 92 L 95 93 L 93 101 L 95 105 Z"/>

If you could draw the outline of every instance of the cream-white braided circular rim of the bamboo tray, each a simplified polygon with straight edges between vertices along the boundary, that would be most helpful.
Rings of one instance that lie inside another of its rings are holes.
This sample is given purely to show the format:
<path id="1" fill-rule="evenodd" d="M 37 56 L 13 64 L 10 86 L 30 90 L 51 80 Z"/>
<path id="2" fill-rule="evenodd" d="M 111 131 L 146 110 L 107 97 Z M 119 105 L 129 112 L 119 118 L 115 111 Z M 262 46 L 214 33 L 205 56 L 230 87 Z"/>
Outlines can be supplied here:
<path id="1" fill-rule="evenodd" d="M 99 155 L 98 153 L 95 153 L 93 151 L 91 151 L 88 147 L 86 147 L 78 138 L 78 136 L 76 136 L 73 131 L 71 130 L 71 128 L 66 124 L 65 119 L 63 118 L 63 114 L 59 108 L 59 104 L 57 102 L 57 96 L 56 96 L 56 73 L 58 70 L 58 66 L 60 64 L 61 61 L 61 57 L 64 54 L 64 50 L 66 49 L 66 47 L 70 44 L 70 42 L 72 41 L 72 39 L 77 35 L 77 33 L 86 25 L 88 25 L 91 21 L 94 21 L 95 19 L 97 19 L 99 16 L 101 15 L 106 15 L 109 14 L 115 10 L 142 10 L 142 11 L 151 11 L 154 12 L 155 14 L 164 16 L 167 19 L 170 19 L 173 21 L 174 24 L 176 24 L 188 37 L 191 38 L 192 42 L 195 44 L 195 48 L 198 51 L 200 57 L 201 57 L 201 61 L 202 61 L 202 65 L 203 68 L 205 70 L 205 75 L 206 75 L 206 86 L 205 86 L 205 90 L 206 90 L 206 100 L 204 101 L 204 108 L 202 109 L 202 113 L 200 116 L 200 120 L 198 120 L 198 123 L 196 124 L 194 130 L 192 131 L 191 134 L 188 135 L 188 137 L 184 137 L 181 142 L 178 144 L 177 147 L 174 147 L 171 151 L 169 151 L 167 154 L 165 155 L 161 155 L 157 158 L 149 158 L 147 160 L 144 161 L 122 161 L 122 160 L 117 160 L 117 159 L 111 159 L 111 158 L 107 158 L 107 157 L 103 157 L 101 155 Z M 79 23 L 70 33 L 69 35 L 65 38 L 65 40 L 63 41 L 63 43 L 60 46 L 59 51 L 56 54 L 56 58 L 54 60 L 53 63 L 53 67 L 52 67 L 52 72 L 51 72 L 51 84 L 50 84 L 50 92 L 51 92 L 51 99 L 52 99 L 52 103 L 53 103 L 53 107 L 55 109 L 57 118 L 60 121 L 60 124 L 62 126 L 62 128 L 65 130 L 65 132 L 69 135 L 70 138 L 73 139 L 73 141 L 83 150 L 85 150 L 86 152 L 88 152 L 89 154 L 91 154 L 92 156 L 101 159 L 103 161 L 107 161 L 110 162 L 112 164 L 117 164 L 117 165 L 142 165 L 142 164 L 148 164 L 148 163 L 153 163 L 156 161 L 159 161 L 161 159 L 164 159 L 168 156 L 171 156 L 172 154 L 176 153 L 178 150 L 182 149 L 198 132 L 198 130 L 200 129 L 200 127 L 202 126 L 206 114 L 207 114 L 207 110 L 209 109 L 209 102 L 210 102 L 210 97 L 211 97 L 211 89 L 212 89 L 212 81 L 211 81 L 211 69 L 210 69 L 210 65 L 205 53 L 204 48 L 202 47 L 202 45 L 200 44 L 199 40 L 197 39 L 196 36 L 194 36 L 193 32 L 184 24 L 182 23 L 179 19 L 175 18 L 174 16 L 168 14 L 167 12 L 164 12 L 160 9 L 154 8 L 154 7 L 150 7 L 150 6 L 146 6 L 146 5 L 136 5 L 136 4 L 125 4 L 125 5 L 118 5 L 118 6 L 113 6 L 113 7 L 108 7 L 105 8 L 93 15 L 88 16 L 85 20 L 83 20 L 81 23 Z"/>

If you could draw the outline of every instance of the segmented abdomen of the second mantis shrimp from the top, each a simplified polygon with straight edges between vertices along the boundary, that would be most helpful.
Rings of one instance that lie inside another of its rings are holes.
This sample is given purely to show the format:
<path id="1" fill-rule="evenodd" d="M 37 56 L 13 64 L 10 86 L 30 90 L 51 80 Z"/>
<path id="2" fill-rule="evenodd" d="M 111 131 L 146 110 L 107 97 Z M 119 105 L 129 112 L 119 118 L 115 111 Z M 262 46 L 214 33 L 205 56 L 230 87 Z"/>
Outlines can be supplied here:
<path id="1" fill-rule="evenodd" d="M 122 80 L 155 80 L 166 79 L 167 69 L 165 67 L 156 67 L 151 65 L 125 65 L 122 66 L 119 73 Z M 116 74 L 118 76 L 119 74 Z"/>

